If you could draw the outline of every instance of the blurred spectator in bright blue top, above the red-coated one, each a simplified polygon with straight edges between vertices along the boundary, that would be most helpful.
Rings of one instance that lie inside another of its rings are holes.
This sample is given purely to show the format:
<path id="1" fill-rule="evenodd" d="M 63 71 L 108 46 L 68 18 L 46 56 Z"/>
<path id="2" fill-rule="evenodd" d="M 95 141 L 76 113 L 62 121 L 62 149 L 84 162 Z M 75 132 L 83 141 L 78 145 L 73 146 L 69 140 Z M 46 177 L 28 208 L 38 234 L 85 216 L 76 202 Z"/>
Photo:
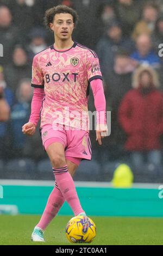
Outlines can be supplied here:
<path id="1" fill-rule="evenodd" d="M 137 37 L 136 51 L 131 54 L 131 58 L 140 64 L 148 64 L 155 69 L 160 68 L 161 59 L 154 53 L 151 37 L 147 34 L 141 34 Z"/>

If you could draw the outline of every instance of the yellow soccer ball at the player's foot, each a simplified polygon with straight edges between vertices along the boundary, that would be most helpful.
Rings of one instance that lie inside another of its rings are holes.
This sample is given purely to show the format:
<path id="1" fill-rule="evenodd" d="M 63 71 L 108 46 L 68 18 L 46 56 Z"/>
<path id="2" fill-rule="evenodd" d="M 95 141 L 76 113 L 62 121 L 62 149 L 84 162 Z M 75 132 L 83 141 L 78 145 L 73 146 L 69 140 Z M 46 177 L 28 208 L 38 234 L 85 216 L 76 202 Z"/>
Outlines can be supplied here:
<path id="1" fill-rule="evenodd" d="M 96 225 L 87 216 L 73 217 L 66 225 L 66 236 L 71 243 L 91 243 L 96 236 Z"/>

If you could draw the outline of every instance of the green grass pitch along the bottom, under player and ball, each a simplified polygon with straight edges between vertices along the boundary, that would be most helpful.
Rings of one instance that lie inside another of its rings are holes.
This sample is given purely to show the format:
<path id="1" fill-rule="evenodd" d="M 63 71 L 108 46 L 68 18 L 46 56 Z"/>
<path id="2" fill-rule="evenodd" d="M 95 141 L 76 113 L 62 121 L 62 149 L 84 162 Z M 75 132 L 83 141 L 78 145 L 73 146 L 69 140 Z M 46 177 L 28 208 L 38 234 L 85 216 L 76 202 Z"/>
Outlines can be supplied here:
<path id="1" fill-rule="evenodd" d="M 45 233 L 41 245 L 72 245 L 65 235 L 72 216 L 58 216 Z M 97 235 L 91 245 L 162 245 L 163 218 L 93 217 Z M 0 245 L 40 245 L 30 241 L 39 215 L 0 215 Z"/>

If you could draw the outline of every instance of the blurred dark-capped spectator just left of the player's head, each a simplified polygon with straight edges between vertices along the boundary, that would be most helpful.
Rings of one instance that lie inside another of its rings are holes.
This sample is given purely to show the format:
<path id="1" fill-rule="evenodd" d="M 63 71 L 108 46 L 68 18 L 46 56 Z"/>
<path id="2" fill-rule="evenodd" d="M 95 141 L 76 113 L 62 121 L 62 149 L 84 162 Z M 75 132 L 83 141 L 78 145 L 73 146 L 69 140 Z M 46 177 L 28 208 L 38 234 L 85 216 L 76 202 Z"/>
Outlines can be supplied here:
<path id="1" fill-rule="evenodd" d="M 45 50 L 48 46 L 46 44 L 46 32 L 43 28 L 34 27 L 29 33 L 30 43 L 27 47 L 28 57 L 32 62 L 35 54 Z"/>

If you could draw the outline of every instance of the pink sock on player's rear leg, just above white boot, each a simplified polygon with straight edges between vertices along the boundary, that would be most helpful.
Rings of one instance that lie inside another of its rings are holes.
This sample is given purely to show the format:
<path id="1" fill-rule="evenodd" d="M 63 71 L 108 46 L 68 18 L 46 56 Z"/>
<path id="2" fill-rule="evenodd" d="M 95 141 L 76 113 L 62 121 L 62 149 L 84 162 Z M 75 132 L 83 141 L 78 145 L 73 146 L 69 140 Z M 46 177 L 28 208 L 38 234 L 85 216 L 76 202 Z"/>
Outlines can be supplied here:
<path id="1" fill-rule="evenodd" d="M 48 224 L 58 214 L 58 211 L 60 210 L 64 202 L 65 198 L 62 196 L 58 185 L 55 183 L 55 187 L 48 198 L 48 202 L 42 214 L 41 220 L 36 226 L 45 230 Z"/>

